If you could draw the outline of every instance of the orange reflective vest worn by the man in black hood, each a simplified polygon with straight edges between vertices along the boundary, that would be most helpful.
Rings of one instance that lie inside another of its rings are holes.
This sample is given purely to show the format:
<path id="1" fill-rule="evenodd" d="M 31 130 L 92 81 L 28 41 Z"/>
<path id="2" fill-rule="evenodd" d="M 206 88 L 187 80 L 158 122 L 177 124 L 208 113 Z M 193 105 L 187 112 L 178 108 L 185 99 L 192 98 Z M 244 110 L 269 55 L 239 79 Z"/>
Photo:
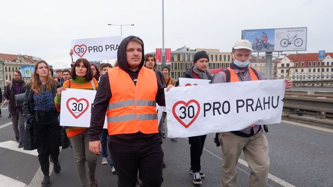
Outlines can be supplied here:
<path id="1" fill-rule="evenodd" d="M 108 75 L 112 93 L 106 112 L 109 135 L 157 133 L 155 72 L 142 67 L 136 85 L 119 67 L 109 69 Z"/>

